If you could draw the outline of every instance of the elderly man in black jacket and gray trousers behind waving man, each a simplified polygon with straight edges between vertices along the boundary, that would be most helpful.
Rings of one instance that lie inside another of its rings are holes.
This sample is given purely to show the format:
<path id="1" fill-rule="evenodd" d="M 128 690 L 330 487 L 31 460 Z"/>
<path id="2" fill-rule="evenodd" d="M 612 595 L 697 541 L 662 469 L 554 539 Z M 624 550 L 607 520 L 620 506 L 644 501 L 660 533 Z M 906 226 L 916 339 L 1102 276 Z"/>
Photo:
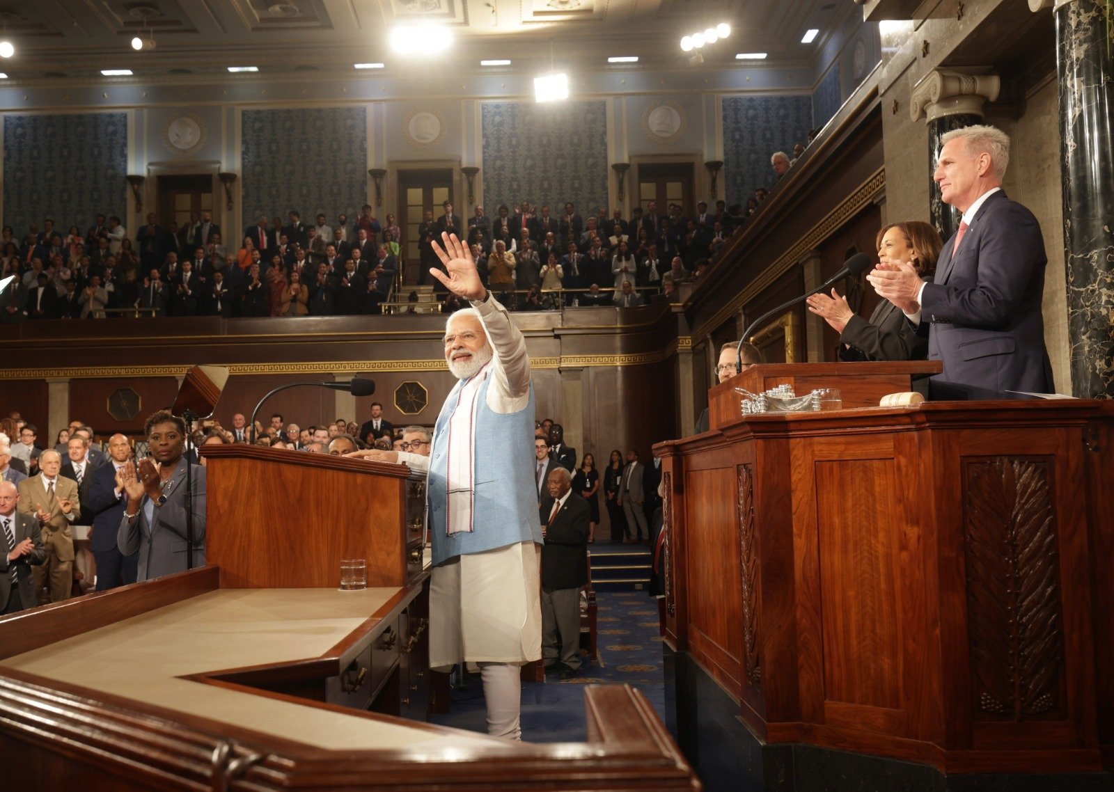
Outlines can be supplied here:
<path id="1" fill-rule="evenodd" d="M 570 679 L 580 669 L 580 587 L 588 581 L 588 501 L 573 493 L 571 477 L 556 468 L 538 507 L 541 535 L 541 659 Z"/>

